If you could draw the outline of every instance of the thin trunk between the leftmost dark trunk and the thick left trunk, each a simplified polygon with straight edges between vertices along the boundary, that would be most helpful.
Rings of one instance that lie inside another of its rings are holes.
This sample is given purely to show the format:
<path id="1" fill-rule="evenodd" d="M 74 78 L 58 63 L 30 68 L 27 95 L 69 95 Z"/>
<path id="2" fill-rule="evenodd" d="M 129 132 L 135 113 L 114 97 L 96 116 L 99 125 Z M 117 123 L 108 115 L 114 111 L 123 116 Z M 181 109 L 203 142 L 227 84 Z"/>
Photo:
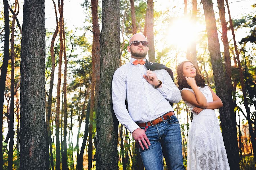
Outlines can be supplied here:
<path id="1" fill-rule="evenodd" d="M 17 1 L 15 1 L 14 13 L 16 13 Z M 14 145 L 14 72 L 15 72 L 15 54 L 14 54 L 14 28 L 15 28 L 15 16 L 13 15 L 13 21 L 11 26 L 11 104 L 9 114 L 9 151 L 8 151 L 8 169 L 13 169 L 13 145 Z"/>

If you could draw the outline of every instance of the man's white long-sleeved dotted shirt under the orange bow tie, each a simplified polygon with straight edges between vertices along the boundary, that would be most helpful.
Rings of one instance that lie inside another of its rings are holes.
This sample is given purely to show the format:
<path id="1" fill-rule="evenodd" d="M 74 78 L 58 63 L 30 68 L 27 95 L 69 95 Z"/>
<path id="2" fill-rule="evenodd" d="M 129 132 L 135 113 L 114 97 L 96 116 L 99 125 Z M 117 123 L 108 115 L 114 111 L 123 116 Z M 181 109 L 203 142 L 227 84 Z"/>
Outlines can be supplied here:
<path id="1" fill-rule="evenodd" d="M 118 121 L 130 132 L 139 128 L 135 122 L 148 122 L 166 112 L 174 111 L 169 101 L 178 103 L 181 100 L 181 92 L 166 70 L 153 71 L 163 82 L 161 88 L 155 89 L 143 78 L 147 71 L 146 66 L 134 65 L 132 63 L 134 60 L 136 59 L 131 58 L 130 62 L 118 68 L 112 81 L 114 112 Z"/>

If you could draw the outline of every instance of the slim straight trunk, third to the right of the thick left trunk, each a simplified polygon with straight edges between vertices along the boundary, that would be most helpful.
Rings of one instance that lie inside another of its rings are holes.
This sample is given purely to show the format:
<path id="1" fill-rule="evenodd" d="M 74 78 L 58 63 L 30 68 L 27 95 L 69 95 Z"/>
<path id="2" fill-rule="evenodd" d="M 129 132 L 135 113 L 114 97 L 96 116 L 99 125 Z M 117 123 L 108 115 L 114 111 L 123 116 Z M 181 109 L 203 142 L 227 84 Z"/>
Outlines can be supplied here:
<path id="1" fill-rule="evenodd" d="M 64 52 L 64 83 L 63 83 L 63 93 L 64 93 L 64 125 L 63 125 L 63 155 L 62 155 L 62 169 L 67 170 L 67 56 L 66 56 L 66 42 L 65 42 L 65 26 L 63 21 L 63 52 Z"/>

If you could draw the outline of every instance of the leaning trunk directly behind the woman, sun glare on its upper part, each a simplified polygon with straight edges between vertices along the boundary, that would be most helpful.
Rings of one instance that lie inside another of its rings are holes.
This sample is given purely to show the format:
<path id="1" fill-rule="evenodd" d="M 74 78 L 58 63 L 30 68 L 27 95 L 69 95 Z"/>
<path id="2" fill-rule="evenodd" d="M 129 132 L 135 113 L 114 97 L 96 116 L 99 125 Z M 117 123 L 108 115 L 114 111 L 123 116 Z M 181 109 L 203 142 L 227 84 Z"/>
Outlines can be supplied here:
<path id="1" fill-rule="evenodd" d="M 213 3 L 212 0 L 203 0 L 202 3 L 208 37 L 208 48 L 211 56 L 212 70 L 216 84 L 216 92 L 224 105 L 224 107 L 219 109 L 224 145 L 226 148 L 230 169 L 236 170 L 239 169 L 237 137 L 233 133 L 232 121 L 230 121 L 230 103 L 228 102 L 228 91 L 225 83 L 222 59 L 220 55 L 220 44 L 214 16 Z"/>

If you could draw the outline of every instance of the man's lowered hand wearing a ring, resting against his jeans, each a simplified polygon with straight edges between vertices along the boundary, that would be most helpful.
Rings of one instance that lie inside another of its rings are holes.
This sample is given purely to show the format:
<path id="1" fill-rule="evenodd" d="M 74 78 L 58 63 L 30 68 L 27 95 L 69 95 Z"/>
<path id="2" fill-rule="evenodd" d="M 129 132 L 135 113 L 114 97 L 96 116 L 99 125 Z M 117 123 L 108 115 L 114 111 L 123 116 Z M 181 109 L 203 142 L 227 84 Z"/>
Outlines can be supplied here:
<path id="1" fill-rule="evenodd" d="M 144 146 L 146 146 L 147 149 L 148 149 L 148 145 L 149 146 L 151 145 L 149 140 L 148 140 L 148 137 L 145 133 L 145 130 L 143 130 L 141 128 L 135 129 L 132 132 L 132 137 L 136 141 L 137 145 L 138 144 L 140 145 L 142 150 L 144 150 L 144 147 L 143 147 L 142 143 L 144 144 Z"/>

